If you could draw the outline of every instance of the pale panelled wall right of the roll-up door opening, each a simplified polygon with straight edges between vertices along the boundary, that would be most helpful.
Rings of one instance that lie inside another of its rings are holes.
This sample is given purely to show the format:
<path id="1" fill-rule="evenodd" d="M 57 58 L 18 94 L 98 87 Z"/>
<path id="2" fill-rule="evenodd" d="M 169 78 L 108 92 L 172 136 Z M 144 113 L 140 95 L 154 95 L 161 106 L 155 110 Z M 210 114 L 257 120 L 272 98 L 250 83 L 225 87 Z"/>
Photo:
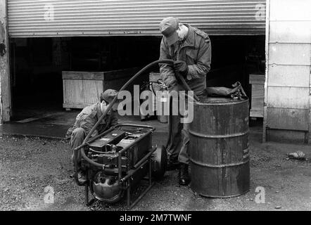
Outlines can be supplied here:
<path id="1" fill-rule="evenodd" d="M 263 138 L 307 142 L 311 130 L 311 1 L 269 0 L 267 5 Z"/>

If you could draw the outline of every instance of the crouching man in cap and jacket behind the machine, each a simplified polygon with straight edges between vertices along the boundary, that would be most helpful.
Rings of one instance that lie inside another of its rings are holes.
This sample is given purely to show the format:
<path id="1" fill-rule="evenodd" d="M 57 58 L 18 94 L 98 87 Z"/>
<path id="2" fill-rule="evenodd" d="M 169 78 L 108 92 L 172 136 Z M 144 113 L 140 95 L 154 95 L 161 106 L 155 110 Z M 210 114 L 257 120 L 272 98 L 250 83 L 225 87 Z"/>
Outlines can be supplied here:
<path id="1" fill-rule="evenodd" d="M 85 137 L 87 136 L 87 134 L 89 134 L 89 131 L 91 131 L 92 127 L 94 127 L 96 122 L 99 121 L 101 115 L 106 112 L 109 104 L 113 101 L 113 98 L 115 98 L 117 94 L 118 92 L 113 89 L 107 89 L 106 91 L 101 93 L 101 95 L 99 96 L 100 102 L 85 107 L 81 111 L 81 113 L 77 115 L 73 127 L 70 127 L 70 129 L 68 129 L 66 138 L 70 139 L 69 144 L 70 148 L 72 149 L 71 159 L 73 163 L 75 163 L 74 149 L 83 143 Z M 101 134 L 103 133 L 103 131 L 106 131 L 110 127 L 113 127 L 117 124 L 118 112 L 115 110 L 115 108 L 111 108 L 107 115 L 103 117 L 103 120 L 101 120 L 99 126 L 96 127 L 94 132 L 91 134 L 91 137 Z M 77 168 L 78 179 L 81 183 L 83 183 L 86 178 L 84 172 L 81 169 L 80 150 L 77 151 Z"/>

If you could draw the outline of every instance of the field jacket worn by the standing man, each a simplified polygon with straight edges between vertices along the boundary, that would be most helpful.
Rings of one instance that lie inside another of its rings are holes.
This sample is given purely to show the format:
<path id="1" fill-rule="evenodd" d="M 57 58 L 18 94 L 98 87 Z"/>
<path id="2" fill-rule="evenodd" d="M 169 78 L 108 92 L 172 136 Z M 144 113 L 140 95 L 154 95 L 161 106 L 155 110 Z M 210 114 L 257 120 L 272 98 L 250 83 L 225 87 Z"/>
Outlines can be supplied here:
<path id="1" fill-rule="evenodd" d="M 210 71 L 212 46 L 210 38 L 205 32 L 186 25 L 188 35 L 182 43 L 169 46 L 163 36 L 160 44 L 160 59 L 183 60 L 189 68 L 186 82 L 195 94 L 200 95 L 206 88 L 206 74 Z M 177 79 L 174 76 L 172 65 L 160 65 L 161 78 L 167 86 L 175 86 Z"/>

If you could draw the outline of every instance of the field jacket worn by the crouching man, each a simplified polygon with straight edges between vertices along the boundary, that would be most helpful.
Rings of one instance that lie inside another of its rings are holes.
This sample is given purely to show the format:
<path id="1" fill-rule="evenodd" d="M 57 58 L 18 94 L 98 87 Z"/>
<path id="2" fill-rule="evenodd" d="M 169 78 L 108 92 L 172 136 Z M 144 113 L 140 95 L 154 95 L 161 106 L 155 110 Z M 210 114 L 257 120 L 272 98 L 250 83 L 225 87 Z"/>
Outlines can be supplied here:
<path id="1" fill-rule="evenodd" d="M 107 114 L 103 117 L 103 120 L 96 128 L 96 130 L 91 134 L 91 136 L 96 136 L 97 134 L 101 134 L 103 131 L 106 131 L 110 127 L 113 127 L 118 124 L 118 112 L 115 110 L 111 110 L 111 113 Z M 99 120 L 99 117 L 103 115 L 101 113 L 101 104 L 95 103 L 93 105 L 89 105 L 85 107 L 81 113 L 79 113 L 75 119 L 75 124 L 73 127 L 70 127 L 65 135 L 66 139 L 71 137 L 72 131 L 77 127 L 82 127 L 86 134 L 89 134 L 92 127 Z"/>

